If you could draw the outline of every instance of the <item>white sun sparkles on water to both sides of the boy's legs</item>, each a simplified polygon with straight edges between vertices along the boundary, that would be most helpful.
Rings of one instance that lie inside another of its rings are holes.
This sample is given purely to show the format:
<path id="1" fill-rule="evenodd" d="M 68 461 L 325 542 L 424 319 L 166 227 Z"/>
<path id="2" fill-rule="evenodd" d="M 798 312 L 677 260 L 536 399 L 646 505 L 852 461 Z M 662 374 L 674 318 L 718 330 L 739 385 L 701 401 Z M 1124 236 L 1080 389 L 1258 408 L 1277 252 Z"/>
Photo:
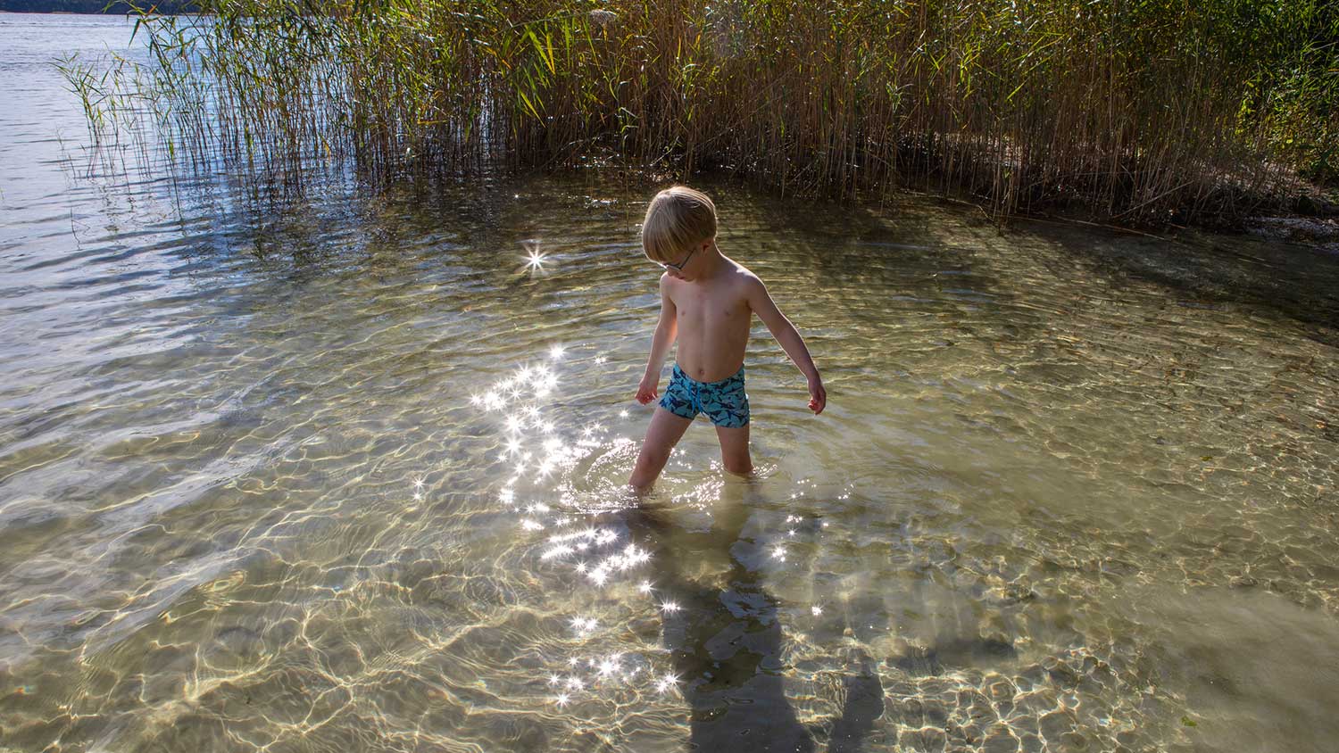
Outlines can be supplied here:
<path id="1" fill-rule="evenodd" d="M 525 552 L 518 566 L 544 583 L 545 593 L 560 594 L 546 606 L 560 610 L 561 629 L 556 643 L 541 649 L 553 666 L 536 682 L 545 687 L 550 708 L 578 709 L 574 716 L 588 717 L 590 704 L 617 708 L 628 702 L 628 693 L 649 700 L 679 691 L 683 681 L 664 666 L 674 659 L 659 649 L 657 639 L 639 642 L 644 639 L 637 635 L 645 634 L 648 622 L 680 622 L 696 606 L 676 598 L 670 574 L 653 570 L 652 550 L 635 539 L 621 515 L 632 502 L 619 495 L 621 487 L 580 491 L 590 486 L 586 476 L 607 472 L 593 471 L 592 463 L 611 456 L 631 459 L 635 443 L 615 436 L 597 420 L 573 423 L 577 413 L 570 404 L 552 403 L 549 396 L 562 381 L 560 369 L 582 361 L 561 344 L 550 345 L 544 356 L 517 365 L 470 403 L 494 428 L 489 455 L 498 459 L 501 469 L 498 504 Z M 592 360 L 604 362 L 603 356 Z M 629 415 L 621 408 L 611 413 L 619 424 Z M 682 464 L 682 452 L 676 451 L 672 461 Z M 674 496 L 672 504 L 692 507 L 710 519 L 723 486 L 723 479 L 710 479 Z M 805 507 L 801 496 L 793 498 L 793 510 Z M 814 516 L 787 514 L 767 536 L 763 555 L 775 567 L 802 568 L 826 526 Z M 810 619 L 823 615 L 817 598 L 799 609 Z"/>

